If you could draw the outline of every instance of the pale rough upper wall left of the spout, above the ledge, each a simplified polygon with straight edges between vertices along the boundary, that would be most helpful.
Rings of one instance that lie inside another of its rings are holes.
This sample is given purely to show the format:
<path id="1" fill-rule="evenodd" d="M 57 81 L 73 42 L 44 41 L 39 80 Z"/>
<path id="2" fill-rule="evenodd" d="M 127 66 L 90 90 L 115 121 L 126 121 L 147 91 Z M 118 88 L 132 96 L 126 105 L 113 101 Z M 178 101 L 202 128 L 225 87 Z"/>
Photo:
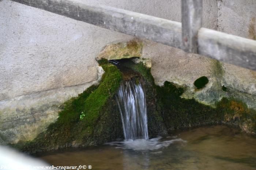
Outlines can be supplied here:
<path id="1" fill-rule="evenodd" d="M 10 0 L 0 8 L 0 100 L 95 81 L 101 49 L 133 38 Z"/>

